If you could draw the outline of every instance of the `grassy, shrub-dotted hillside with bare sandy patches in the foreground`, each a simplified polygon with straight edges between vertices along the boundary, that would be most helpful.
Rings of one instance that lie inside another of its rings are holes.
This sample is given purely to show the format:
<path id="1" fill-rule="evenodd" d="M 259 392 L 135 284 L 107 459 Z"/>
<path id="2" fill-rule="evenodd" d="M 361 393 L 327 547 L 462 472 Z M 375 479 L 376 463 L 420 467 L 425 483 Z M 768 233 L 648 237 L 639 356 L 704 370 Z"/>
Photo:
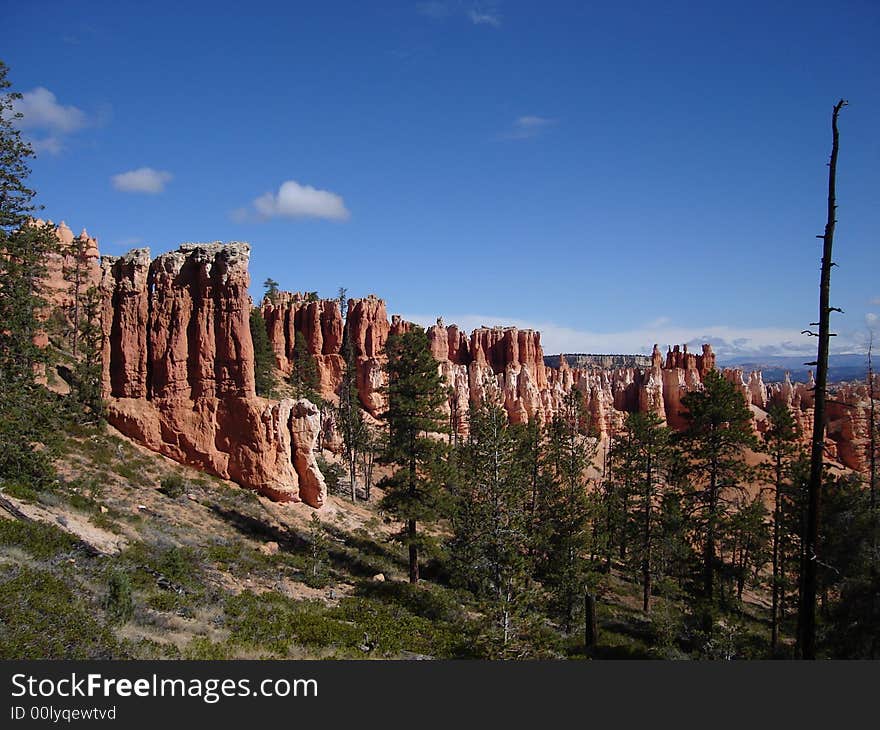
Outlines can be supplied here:
<path id="1" fill-rule="evenodd" d="M 427 580 L 405 582 L 393 525 L 372 504 L 275 504 L 112 429 L 70 433 L 58 467 L 49 490 L 0 493 L 0 658 L 495 656 L 442 555 Z M 722 616 L 707 648 L 671 587 L 650 618 L 618 573 L 596 588 L 593 657 L 761 656 L 767 645 L 763 597 Z M 581 634 L 547 620 L 508 655 L 584 658 Z"/>

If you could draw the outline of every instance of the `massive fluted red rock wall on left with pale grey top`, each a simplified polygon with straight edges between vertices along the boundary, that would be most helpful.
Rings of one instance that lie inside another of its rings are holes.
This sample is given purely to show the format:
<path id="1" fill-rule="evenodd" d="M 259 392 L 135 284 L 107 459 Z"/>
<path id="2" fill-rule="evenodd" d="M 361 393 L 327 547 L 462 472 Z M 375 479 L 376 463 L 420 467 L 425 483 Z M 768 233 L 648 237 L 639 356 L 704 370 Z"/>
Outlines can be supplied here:
<path id="1" fill-rule="evenodd" d="M 317 409 L 254 392 L 243 243 L 102 261 L 104 397 L 126 435 L 283 501 L 320 507 Z"/>

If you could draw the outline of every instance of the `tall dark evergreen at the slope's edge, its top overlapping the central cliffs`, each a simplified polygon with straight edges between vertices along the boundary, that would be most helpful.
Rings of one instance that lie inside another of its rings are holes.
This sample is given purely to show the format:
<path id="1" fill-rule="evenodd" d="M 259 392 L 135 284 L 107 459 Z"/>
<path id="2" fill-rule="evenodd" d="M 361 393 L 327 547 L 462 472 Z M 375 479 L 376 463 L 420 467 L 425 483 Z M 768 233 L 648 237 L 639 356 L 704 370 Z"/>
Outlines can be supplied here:
<path id="1" fill-rule="evenodd" d="M 394 467 L 381 480 L 382 508 L 403 528 L 395 536 L 409 550 L 409 580 L 419 580 L 419 554 L 430 540 L 419 524 L 434 522 L 441 513 L 444 459 L 448 447 L 436 434 L 447 428 L 443 404 L 446 389 L 428 337 L 421 327 L 392 335 L 385 345 L 385 393 L 388 441 L 382 462 Z"/>

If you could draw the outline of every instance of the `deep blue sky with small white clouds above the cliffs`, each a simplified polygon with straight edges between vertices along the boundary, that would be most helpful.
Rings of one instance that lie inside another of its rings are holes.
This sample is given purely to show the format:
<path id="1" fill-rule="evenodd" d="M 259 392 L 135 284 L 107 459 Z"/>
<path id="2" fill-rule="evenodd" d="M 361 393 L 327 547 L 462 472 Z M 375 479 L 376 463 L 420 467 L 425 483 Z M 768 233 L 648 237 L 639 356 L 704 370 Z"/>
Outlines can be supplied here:
<path id="1" fill-rule="evenodd" d="M 880 315 L 876 2 L 4 2 L 44 214 L 253 246 L 253 294 L 384 297 L 545 350 L 837 351 Z"/>

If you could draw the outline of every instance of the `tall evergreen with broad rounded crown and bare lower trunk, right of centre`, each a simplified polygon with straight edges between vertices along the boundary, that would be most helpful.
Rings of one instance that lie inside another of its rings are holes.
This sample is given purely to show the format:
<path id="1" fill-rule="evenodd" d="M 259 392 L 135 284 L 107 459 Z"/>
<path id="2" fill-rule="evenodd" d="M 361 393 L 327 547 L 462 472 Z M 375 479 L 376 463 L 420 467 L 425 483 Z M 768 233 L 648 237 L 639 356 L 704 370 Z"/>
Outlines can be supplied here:
<path id="1" fill-rule="evenodd" d="M 745 398 L 717 370 L 703 378 L 703 388 L 682 398 L 687 429 L 678 443 L 690 466 L 690 510 L 698 526 L 703 557 L 704 628 L 711 629 L 708 608 L 715 598 L 718 538 L 722 518 L 731 509 L 730 492 L 741 489 L 749 474 L 745 449 L 755 447 L 752 414 Z"/>

